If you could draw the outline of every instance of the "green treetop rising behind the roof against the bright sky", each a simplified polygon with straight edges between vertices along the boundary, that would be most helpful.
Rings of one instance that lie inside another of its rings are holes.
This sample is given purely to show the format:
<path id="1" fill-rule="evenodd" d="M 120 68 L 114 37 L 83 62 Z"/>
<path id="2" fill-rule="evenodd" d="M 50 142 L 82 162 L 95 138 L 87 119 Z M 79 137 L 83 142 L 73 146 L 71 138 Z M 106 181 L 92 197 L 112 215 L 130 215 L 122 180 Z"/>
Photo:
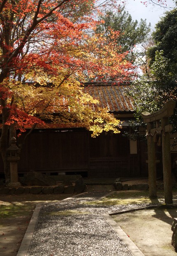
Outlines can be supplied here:
<path id="1" fill-rule="evenodd" d="M 130 62 L 135 62 L 139 55 L 142 55 L 140 48 L 137 46 L 146 42 L 150 32 L 150 24 L 147 25 L 146 20 L 141 19 L 133 21 L 131 15 L 125 10 L 125 7 L 120 7 L 117 12 L 105 11 L 100 16 L 101 23 L 97 27 L 98 32 L 104 33 L 107 40 L 110 38 L 110 28 L 113 31 L 119 31 L 116 39 L 117 52 L 128 52 L 126 59 Z"/>

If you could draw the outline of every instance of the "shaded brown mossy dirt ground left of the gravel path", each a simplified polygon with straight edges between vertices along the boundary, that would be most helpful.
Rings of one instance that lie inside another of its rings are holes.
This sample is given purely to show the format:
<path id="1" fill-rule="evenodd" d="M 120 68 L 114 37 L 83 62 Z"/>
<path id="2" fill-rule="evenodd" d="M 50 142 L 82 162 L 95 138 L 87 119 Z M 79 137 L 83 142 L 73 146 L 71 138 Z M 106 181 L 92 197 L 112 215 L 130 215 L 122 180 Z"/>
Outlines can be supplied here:
<path id="1" fill-rule="evenodd" d="M 70 194 L 0 195 L 0 256 L 16 256 L 36 204 L 60 201 Z"/>

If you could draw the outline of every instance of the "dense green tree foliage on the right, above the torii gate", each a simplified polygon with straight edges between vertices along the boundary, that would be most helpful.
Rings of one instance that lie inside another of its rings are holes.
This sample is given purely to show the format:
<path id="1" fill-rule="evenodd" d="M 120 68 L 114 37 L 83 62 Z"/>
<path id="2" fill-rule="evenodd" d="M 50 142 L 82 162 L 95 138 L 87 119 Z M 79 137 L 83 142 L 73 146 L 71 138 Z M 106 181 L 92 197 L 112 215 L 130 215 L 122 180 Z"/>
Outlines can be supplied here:
<path id="1" fill-rule="evenodd" d="M 142 123 L 141 113 L 153 113 L 169 100 L 177 101 L 177 9 L 166 12 L 152 34 L 154 44 L 147 49 L 149 74 L 137 80 L 130 95 L 136 101 L 135 117 Z M 173 131 L 177 130 L 177 110 L 170 117 Z"/>

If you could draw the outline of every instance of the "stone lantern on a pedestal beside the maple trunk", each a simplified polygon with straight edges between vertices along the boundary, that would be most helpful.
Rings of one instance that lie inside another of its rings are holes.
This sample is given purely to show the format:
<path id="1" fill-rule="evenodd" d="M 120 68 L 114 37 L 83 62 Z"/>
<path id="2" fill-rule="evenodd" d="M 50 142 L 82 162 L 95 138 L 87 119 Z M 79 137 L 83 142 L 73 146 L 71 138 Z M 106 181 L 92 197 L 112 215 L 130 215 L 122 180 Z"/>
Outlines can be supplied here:
<path id="1" fill-rule="evenodd" d="M 7 149 L 7 160 L 10 162 L 10 183 L 9 185 L 21 185 L 18 182 L 17 161 L 20 159 L 20 149 L 16 146 L 16 138 L 10 140 L 10 147 Z"/>

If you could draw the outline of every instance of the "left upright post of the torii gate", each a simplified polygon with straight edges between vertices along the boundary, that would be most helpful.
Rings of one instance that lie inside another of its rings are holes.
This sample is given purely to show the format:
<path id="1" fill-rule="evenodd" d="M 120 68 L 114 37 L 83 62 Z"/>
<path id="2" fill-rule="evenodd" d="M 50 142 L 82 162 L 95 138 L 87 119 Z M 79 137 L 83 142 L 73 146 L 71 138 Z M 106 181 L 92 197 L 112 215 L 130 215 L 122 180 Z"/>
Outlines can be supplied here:
<path id="1" fill-rule="evenodd" d="M 148 174 L 149 174 L 149 197 L 157 197 L 156 186 L 156 150 L 153 136 L 150 135 L 150 130 L 153 128 L 153 123 L 147 123 L 147 149 L 148 149 Z"/>

